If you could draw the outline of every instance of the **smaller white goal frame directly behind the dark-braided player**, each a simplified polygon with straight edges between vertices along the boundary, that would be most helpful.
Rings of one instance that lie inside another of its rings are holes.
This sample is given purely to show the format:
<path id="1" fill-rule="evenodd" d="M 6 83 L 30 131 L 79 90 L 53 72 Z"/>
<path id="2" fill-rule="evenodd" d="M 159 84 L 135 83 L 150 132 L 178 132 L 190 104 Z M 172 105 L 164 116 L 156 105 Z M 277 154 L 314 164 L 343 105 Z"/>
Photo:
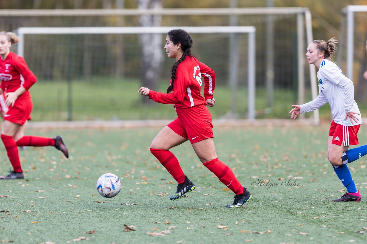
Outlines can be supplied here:
<path id="1" fill-rule="evenodd" d="M 184 29 L 188 33 L 247 33 L 248 34 L 248 119 L 255 120 L 255 32 L 254 26 L 160 26 L 160 27 L 20 27 L 15 30 L 23 40 L 17 54 L 24 55 L 26 34 L 166 34 L 172 29 Z"/>

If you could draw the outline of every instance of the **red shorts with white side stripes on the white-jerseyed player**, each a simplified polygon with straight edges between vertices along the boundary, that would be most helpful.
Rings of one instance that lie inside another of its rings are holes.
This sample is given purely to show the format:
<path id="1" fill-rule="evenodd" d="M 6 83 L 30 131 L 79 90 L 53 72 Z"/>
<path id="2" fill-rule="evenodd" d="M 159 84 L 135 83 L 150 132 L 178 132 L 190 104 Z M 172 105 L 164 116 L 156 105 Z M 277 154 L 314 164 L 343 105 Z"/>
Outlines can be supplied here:
<path id="1" fill-rule="evenodd" d="M 357 133 L 359 131 L 360 124 L 353 126 L 345 126 L 341 124 L 335 123 L 333 120 L 330 123 L 329 136 L 333 136 L 333 140 L 331 143 L 337 144 L 341 146 L 344 143 L 344 146 L 357 145 L 358 137 Z"/>

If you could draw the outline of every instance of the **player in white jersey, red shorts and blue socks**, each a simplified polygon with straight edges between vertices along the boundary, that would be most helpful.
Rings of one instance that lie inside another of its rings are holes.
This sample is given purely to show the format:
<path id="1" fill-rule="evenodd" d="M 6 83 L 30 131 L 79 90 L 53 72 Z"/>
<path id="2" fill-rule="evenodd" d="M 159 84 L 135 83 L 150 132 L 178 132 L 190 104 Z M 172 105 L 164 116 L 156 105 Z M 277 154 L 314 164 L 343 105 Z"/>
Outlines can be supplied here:
<path id="1" fill-rule="evenodd" d="M 307 47 L 306 57 L 309 64 L 319 68 L 319 95 L 312 101 L 302 105 L 292 105 L 289 112 L 295 119 L 301 113 L 310 112 L 320 108 L 327 102 L 330 105 L 333 121 L 330 125 L 328 138 L 328 159 L 347 192 L 335 202 L 349 202 L 361 200 L 361 195 L 356 189 L 347 163 L 367 154 L 367 145 L 349 149 L 350 145 L 357 145 L 357 133 L 362 123 L 358 105 L 354 100 L 354 87 L 352 80 L 348 79 L 341 69 L 330 61 L 331 55 L 336 50 L 337 40 L 315 40 Z"/>

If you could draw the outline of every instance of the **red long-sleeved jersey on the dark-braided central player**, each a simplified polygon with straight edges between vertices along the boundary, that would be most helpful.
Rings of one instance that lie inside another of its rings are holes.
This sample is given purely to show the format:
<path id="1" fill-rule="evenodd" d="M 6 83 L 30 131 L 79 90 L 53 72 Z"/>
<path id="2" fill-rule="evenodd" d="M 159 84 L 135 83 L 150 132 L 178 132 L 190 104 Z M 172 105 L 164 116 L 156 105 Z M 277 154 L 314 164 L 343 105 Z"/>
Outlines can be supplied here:
<path id="1" fill-rule="evenodd" d="M 201 76 L 204 77 L 205 98 L 201 96 Z M 174 104 L 175 108 L 190 108 L 206 105 L 206 99 L 213 98 L 214 87 L 214 71 L 195 57 L 186 57 L 177 67 L 172 93 L 150 90 L 148 96 L 155 102 Z"/>

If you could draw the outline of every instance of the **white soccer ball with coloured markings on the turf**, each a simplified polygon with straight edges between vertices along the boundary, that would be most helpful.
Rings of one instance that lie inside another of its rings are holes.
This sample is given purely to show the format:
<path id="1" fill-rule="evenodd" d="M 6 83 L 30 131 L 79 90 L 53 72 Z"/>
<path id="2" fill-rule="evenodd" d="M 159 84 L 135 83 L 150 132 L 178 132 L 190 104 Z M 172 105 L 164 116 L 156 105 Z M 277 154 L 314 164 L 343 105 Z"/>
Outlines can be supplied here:
<path id="1" fill-rule="evenodd" d="M 121 189 L 120 178 L 116 174 L 102 174 L 97 180 L 97 191 L 105 198 L 113 198 Z"/>

